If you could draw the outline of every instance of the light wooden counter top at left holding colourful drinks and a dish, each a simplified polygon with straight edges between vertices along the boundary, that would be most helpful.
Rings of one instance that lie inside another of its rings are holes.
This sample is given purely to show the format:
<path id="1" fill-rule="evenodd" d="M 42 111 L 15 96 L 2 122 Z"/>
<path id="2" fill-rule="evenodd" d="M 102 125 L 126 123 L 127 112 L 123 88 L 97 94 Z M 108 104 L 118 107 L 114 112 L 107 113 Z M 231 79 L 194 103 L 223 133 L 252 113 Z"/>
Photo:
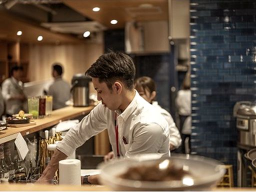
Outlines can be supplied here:
<path id="1" fill-rule="evenodd" d="M 38 130 L 53 126 L 62 120 L 68 120 L 80 115 L 88 114 L 94 106 L 73 107 L 67 106 L 53 110 L 51 116 L 35 119 L 35 125 L 23 127 L 8 127 L 0 131 L 0 144 L 15 139 L 20 132 L 22 135 L 30 134 Z"/>

